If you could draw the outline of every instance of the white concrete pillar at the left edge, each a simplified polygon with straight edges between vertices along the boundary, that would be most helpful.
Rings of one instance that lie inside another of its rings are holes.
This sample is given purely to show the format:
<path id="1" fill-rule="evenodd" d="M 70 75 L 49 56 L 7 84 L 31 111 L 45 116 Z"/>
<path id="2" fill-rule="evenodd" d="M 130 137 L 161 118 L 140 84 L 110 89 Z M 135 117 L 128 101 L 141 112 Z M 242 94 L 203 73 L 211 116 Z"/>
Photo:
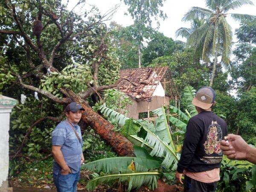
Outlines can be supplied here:
<path id="1" fill-rule="evenodd" d="M 10 113 L 16 102 L 0 95 L 0 192 L 8 192 Z"/>

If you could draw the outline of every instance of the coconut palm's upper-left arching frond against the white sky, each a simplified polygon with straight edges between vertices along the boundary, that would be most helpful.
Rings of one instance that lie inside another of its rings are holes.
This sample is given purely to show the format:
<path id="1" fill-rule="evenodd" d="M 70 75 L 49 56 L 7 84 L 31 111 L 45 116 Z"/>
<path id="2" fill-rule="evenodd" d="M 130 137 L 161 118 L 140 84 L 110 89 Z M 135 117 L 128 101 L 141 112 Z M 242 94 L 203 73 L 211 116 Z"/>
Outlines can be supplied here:
<path id="1" fill-rule="evenodd" d="M 195 18 L 210 18 L 214 13 L 209 9 L 204 9 L 201 7 L 192 7 L 182 18 L 182 21 L 191 21 Z"/>

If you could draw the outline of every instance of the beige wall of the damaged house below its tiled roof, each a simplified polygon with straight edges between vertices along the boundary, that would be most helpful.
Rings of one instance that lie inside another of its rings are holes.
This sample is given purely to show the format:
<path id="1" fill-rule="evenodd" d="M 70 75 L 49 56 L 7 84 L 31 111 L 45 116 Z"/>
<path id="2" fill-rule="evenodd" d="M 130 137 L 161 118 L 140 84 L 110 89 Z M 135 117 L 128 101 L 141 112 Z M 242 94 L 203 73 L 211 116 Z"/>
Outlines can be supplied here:
<path id="1" fill-rule="evenodd" d="M 169 105 L 169 97 L 166 97 L 165 106 Z M 164 104 L 163 96 L 152 96 L 152 101 L 149 102 L 149 111 L 153 111 L 157 108 L 160 108 Z M 132 117 L 134 119 L 139 119 L 139 113 L 148 111 L 148 102 L 143 101 L 134 101 L 133 104 L 128 105 L 127 114 L 128 117 Z"/>

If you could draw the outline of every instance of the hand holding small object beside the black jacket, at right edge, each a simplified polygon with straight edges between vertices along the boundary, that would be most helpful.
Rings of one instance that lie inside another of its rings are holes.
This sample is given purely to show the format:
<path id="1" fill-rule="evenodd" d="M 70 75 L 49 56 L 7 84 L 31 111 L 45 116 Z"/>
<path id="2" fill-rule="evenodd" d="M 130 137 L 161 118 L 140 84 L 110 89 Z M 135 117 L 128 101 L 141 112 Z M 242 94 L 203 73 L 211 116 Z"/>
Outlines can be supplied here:
<path id="1" fill-rule="evenodd" d="M 223 154 L 227 155 L 231 160 L 246 160 L 249 145 L 243 138 L 239 135 L 228 134 L 227 139 L 229 143 L 224 140 L 221 141 Z"/>

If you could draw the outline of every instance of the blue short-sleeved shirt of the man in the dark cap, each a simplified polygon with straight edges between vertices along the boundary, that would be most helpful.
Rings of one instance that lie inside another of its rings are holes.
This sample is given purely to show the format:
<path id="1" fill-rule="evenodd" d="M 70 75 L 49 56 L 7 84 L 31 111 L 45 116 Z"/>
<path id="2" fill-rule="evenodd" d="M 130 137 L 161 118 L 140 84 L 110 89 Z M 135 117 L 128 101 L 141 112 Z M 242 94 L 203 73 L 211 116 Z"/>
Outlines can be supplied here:
<path id="1" fill-rule="evenodd" d="M 73 123 L 72 125 L 76 129 L 76 132 L 81 139 L 81 143 L 79 143 L 79 140 L 76 137 L 76 134 L 71 128 L 70 124 L 67 122 L 67 120 L 64 120 L 60 122 L 52 132 L 52 145 L 61 146 L 61 152 L 65 162 L 67 163 L 67 166 L 69 166 L 72 173 L 77 173 L 80 171 L 81 167 L 83 141 L 79 125 L 75 125 Z M 61 166 L 59 166 L 58 163 L 54 160 L 53 173 L 58 175 L 60 171 Z"/>

